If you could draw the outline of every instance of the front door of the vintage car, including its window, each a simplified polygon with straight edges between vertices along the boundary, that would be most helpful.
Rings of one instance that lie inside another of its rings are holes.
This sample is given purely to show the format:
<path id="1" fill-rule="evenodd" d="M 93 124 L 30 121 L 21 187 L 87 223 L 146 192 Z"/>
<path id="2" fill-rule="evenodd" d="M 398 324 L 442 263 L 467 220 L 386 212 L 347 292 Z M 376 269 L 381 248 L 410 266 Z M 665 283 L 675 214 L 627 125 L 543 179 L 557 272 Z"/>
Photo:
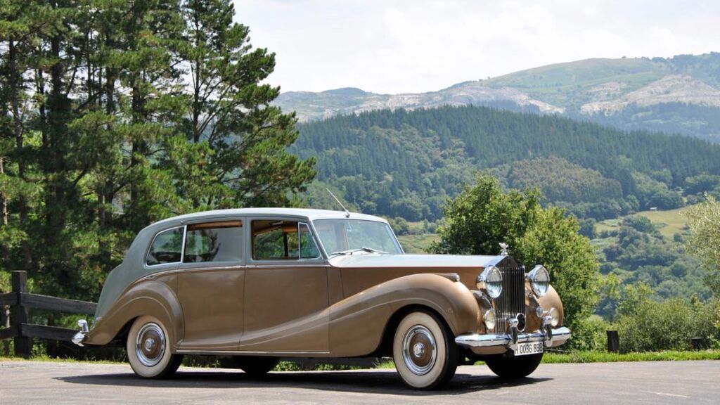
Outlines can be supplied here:
<path id="1" fill-rule="evenodd" d="M 328 266 L 308 221 L 248 221 L 240 350 L 328 352 Z"/>

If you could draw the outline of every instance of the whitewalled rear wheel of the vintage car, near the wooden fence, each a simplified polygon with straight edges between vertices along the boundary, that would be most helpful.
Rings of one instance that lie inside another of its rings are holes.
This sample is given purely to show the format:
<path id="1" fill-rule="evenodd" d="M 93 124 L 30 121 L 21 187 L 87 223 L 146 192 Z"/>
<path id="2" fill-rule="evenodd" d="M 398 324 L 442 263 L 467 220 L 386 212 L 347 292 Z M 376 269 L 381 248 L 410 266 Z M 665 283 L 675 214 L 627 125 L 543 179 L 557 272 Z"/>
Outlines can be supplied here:
<path id="1" fill-rule="evenodd" d="M 135 374 L 144 378 L 166 378 L 175 373 L 182 355 L 170 352 L 166 326 L 153 316 L 135 319 L 127 334 L 127 360 Z"/>

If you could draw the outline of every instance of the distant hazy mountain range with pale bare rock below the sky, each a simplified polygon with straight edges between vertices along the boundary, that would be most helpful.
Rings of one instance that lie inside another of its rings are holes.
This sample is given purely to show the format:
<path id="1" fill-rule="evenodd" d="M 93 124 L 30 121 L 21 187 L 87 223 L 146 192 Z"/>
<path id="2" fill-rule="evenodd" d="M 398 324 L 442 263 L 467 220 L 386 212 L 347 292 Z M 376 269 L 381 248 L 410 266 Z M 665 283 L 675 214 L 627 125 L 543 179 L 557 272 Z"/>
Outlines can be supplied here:
<path id="1" fill-rule="evenodd" d="M 276 104 L 296 111 L 301 121 L 388 108 L 482 105 L 720 143 L 720 53 L 557 63 L 419 94 L 287 92 Z"/>

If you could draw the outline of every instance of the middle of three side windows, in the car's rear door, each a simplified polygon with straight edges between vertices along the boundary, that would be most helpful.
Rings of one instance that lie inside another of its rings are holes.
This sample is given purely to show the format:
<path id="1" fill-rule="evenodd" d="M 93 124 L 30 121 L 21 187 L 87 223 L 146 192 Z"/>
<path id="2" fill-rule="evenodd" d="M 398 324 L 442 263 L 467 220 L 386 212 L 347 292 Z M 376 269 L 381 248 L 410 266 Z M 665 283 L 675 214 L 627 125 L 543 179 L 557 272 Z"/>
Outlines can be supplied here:
<path id="1" fill-rule="evenodd" d="M 242 221 L 197 223 L 187 227 L 183 262 L 239 262 L 242 249 Z"/>

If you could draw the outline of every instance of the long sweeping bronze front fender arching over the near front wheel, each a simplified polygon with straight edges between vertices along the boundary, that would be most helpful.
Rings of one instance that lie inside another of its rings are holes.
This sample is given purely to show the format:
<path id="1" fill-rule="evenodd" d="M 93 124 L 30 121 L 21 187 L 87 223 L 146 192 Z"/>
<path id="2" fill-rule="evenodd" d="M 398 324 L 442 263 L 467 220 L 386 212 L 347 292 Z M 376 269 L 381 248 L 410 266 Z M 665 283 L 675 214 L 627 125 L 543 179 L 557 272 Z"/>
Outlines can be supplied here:
<path id="1" fill-rule="evenodd" d="M 399 277 L 330 307 L 333 356 L 368 355 L 379 347 L 390 317 L 406 306 L 424 306 L 446 321 L 454 336 L 477 331 L 480 307 L 462 284 L 434 274 Z"/>

